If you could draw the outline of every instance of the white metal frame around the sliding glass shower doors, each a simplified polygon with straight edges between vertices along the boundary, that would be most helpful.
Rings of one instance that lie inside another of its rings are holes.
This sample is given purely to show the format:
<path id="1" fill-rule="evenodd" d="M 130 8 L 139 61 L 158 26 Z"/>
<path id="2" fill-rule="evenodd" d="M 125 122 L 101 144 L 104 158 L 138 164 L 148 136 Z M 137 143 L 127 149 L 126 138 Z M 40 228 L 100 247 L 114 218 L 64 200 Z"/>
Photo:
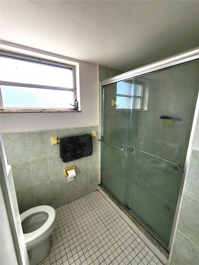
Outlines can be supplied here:
<path id="1" fill-rule="evenodd" d="M 102 131 L 103 131 L 103 126 L 102 126 L 102 114 L 103 113 L 102 113 L 102 110 L 103 110 L 103 101 L 104 101 L 104 88 L 103 88 L 104 85 L 109 85 L 109 84 L 112 84 L 112 83 L 115 83 L 118 81 L 130 79 L 130 78 L 136 78 L 136 77 L 141 76 L 141 75 L 146 75 L 148 73 L 153 73 L 155 71 L 158 71 L 158 70 L 161 70 L 161 69 L 164 69 L 167 67 L 177 66 L 177 65 L 180 65 L 182 63 L 191 62 L 191 61 L 194 61 L 197 59 L 199 59 L 199 47 L 192 49 L 192 50 L 189 50 L 189 51 L 186 51 L 184 53 L 179 53 L 179 54 L 172 56 L 172 57 L 168 57 L 164 60 L 154 62 L 154 63 L 146 65 L 146 66 L 142 66 L 142 67 L 134 69 L 132 71 L 128 71 L 126 73 L 113 76 L 113 77 L 105 79 L 103 81 L 100 81 L 100 102 L 99 103 L 100 103 L 100 127 L 101 128 L 100 128 L 99 139 L 102 138 Z M 185 182 L 185 177 L 186 177 L 186 173 L 187 173 L 188 162 L 189 162 L 190 155 L 191 155 L 191 147 L 192 147 L 192 143 L 193 143 L 194 132 L 196 130 L 197 117 L 198 116 L 199 116 L 199 93 L 198 93 L 198 97 L 197 97 L 196 109 L 195 109 L 195 113 L 194 113 L 189 144 L 188 144 L 188 148 L 187 148 L 187 156 L 186 156 L 186 160 L 185 160 L 182 182 L 181 182 L 180 191 L 179 191 L 179 195 L 178 195 L 178 202 L 177 202 L 177 206 L 176 206 L 174 222 L 173 222 L 171 237 L 170 237 L 170 241 L 169 241 L 168 252 L 170 252 L 170 250 L 171 250 L 172 242 L 173 242 L 173 239 L 175 236 L 175 231 L 177 228 L 177 223 L 178 223 L 178 218 L 179 218 L 179 213 L 180 213 L 180 207 L 181 207 L 181 199 L 182 199 L 182 194 L 183 194 L 183 189 L 184 189 L 184 182 Z M 101 184 L 101 145 L 100 145 L 99 154 L 100 154 L 100 184 Z"/>

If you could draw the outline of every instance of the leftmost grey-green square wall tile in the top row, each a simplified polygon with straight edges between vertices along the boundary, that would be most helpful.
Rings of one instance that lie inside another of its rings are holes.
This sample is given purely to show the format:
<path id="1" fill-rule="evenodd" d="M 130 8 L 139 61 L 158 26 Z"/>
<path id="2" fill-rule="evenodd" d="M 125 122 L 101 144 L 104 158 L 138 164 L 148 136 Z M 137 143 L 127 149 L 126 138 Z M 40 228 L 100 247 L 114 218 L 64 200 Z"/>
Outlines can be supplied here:
<path id="1" fill-rule="evenodd" d="M 8 165 L 29 160 L 28 146 L 25 134 L 3 135 Z"/>

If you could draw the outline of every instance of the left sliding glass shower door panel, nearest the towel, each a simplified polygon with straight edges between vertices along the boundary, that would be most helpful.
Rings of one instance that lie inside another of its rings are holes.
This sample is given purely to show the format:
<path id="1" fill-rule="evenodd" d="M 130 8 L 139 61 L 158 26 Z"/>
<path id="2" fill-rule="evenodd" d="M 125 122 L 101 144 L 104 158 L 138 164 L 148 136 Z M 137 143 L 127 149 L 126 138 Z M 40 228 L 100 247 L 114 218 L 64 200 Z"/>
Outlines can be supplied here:
<path id="1" fill-rule="evenodd" d="M 101 184 L 126 205 L 134 79 L 103 87 Z M 125 150 L 127 149 L 127 150 Z"/>

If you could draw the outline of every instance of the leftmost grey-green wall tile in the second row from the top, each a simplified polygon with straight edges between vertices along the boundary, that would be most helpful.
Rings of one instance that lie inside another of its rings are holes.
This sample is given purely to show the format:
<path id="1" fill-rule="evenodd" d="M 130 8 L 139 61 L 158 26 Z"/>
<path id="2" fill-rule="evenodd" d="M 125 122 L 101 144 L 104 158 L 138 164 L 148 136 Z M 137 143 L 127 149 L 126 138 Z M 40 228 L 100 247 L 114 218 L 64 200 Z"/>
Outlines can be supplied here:
<path id="1" fill-rule="evenodd" d="M 29 161 L 12 165 L 12 176 L 15 184 L 15 190 L 21 190 L 33 186 Z"/>

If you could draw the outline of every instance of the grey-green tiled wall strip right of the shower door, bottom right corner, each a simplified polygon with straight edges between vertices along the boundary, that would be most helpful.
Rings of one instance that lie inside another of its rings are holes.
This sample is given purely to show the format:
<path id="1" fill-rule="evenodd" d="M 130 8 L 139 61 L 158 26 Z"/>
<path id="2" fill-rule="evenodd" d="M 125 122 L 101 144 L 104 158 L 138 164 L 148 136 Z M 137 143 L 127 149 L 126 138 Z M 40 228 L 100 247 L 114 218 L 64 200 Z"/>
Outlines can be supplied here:
<path id="1" fill-rule="evenodd" d="M 198 193 L 199 151 L 192 149 L 170 265 L 199 264 Z"/>

